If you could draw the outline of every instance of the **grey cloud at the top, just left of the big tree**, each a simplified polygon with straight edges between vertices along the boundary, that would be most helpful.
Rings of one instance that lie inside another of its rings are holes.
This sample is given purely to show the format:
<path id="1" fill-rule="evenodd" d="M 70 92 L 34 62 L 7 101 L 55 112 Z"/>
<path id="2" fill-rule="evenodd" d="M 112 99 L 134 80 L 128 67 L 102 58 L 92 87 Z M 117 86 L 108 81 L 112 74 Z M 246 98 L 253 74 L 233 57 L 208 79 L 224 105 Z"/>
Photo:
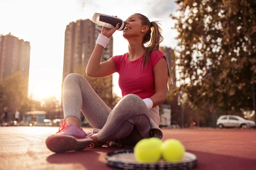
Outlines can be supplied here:
<path id="1" fill-rule="evenodd" d="M 177 9 L 174 0 L 151 0 L 148 2 L 149 17 L 169 17 Z"/>

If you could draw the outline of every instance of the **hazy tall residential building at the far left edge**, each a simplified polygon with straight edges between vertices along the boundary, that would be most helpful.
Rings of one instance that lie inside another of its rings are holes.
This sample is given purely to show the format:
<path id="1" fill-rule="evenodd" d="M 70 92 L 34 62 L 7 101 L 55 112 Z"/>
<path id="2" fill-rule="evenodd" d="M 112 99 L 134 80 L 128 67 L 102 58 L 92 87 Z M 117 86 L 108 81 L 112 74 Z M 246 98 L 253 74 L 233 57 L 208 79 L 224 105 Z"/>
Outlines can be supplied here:
<path id="1" fill-rule="evenodd" d="M 27 78 L 28 91 L 30 42 L 20 40 L 11 33 L 0 35 L 0 84 L 5 77 L 21 71 Z"/>

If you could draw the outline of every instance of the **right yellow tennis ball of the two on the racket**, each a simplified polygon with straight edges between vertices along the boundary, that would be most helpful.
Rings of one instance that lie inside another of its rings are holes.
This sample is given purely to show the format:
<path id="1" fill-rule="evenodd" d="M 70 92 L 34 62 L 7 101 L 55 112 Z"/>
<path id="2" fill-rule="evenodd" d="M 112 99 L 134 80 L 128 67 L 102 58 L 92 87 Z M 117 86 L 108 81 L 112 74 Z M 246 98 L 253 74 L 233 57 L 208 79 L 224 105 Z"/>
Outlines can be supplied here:
<path id="1" fill-rule="evenodd" d="M 162 144 L 162 156 L 167 162 L 180 162 L 185 155 L 184 145 L 177 139 L 167 139 Z"/>

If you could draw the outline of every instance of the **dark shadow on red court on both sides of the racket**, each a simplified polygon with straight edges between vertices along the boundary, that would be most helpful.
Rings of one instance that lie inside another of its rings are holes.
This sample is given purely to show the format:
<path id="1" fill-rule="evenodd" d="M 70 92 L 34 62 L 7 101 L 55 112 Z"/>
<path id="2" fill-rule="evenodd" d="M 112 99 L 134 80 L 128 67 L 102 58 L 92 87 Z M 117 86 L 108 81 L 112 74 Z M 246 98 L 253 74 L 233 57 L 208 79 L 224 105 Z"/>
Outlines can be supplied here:
<path id="1" fill-rule="evenodd" d="M 115 150 L 125 148 L 101 147 L 86 149 L 79 152 L 56 153 L 47 158 L 50 164 L 80 163 L 85 169 L 111 169 L 105 164 L 105 155 Z M 198 166 L 195 170 L 247 170 L 256 167 L 255 159 L 247 159 L 236 156 L 221 155 L 215 153 L 187 150 L 198 158 Z"/>

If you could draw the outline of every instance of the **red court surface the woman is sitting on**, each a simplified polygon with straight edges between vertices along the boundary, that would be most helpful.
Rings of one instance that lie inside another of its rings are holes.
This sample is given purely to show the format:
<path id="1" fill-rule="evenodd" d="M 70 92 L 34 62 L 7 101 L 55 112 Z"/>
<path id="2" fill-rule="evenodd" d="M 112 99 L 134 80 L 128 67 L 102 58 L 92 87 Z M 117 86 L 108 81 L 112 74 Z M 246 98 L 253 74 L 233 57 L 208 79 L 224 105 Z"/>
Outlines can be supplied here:
<path id="1" fill-rule="evenodd" d="M 101 147 L 54 154 L 45 145 L 58 127 L 0 127 L 0 170 L 111 170 Z M 84 130 L 90 130 L 85 129 Z M 256 169 L 256 130 L 163 129 L 163 140 L 180 140 L 198 157 L 195 170 Z"/>

